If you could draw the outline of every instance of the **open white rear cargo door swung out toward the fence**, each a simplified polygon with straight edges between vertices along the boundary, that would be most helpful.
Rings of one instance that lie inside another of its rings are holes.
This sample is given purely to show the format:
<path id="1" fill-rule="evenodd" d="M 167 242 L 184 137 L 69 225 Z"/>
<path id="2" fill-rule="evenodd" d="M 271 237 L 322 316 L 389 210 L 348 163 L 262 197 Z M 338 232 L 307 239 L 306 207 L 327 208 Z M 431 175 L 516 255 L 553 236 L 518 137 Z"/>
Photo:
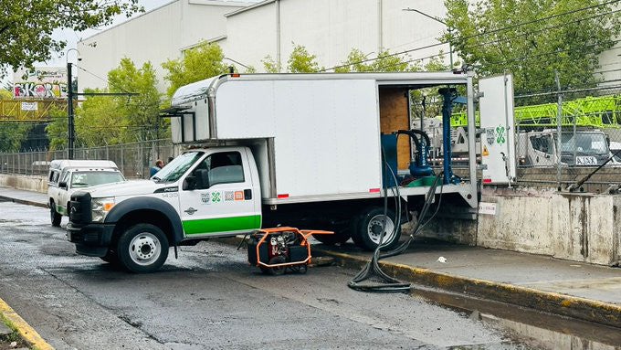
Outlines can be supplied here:
<path id="1" fill-rule="evenodd" d="M 513 77 L 479 80 L 483 184 L 510 184 L 516 178 Z"/>

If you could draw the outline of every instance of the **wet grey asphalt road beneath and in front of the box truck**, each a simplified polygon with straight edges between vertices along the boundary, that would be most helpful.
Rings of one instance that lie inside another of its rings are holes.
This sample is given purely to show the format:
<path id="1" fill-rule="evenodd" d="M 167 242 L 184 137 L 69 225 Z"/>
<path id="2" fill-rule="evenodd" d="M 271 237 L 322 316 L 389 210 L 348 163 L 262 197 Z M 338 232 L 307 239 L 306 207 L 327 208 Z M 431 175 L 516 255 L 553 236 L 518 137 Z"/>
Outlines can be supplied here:
<path id="1" fill-rule="evenodd" d="M 522 348 L 422 299 L 352 291 L 354 270 L 264 276 L 216 240 L 136 275 L 76 255 L 43 208 L 0 203 L 0 237 L 0 298 L 57 349 Z"/>

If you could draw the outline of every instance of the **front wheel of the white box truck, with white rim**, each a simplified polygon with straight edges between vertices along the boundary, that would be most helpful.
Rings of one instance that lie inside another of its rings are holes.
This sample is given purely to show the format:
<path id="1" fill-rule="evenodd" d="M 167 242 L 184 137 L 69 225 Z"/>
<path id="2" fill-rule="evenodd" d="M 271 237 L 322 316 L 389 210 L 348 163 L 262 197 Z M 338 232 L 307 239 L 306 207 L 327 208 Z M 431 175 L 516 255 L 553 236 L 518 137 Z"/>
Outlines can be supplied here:
<path id="1" fill-rule="evenodd" d="M 168 239 L 162 229 L 138 224 L 121 235 L 116 251 L 125 269 L 136 273 L 153 272 L 168 258 Z"/>

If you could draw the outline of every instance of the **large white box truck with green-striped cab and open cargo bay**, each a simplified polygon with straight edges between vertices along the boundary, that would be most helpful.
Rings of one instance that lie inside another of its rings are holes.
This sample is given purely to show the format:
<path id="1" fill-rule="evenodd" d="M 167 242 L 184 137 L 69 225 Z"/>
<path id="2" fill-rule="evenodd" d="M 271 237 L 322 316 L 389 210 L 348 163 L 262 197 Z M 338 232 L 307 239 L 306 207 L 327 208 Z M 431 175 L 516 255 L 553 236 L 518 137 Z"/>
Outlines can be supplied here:
<path id="1" fill-rule="evenodd" d="M 165 112 L 174 143 L 186 150 L 150 180 L 75 193 L 68 239 L 79 254 L 134 272 L 159 269 L 169 247 L 176 253 L 177 246 L 278 224 L 333 229 L 326 243 L 353 237 L 374 249 L 385 195 L 382 244 L 394 245 L 395 218 L 403 215 L 394 211 L 395 197 L 416 210 L 429 187 L 399 186 L 395 196 L 383 138 L 410 128 L 408 94 L 430 88 L 467 91 L 462 101 L 474 135 L 471 73 L 227 74 L 184 86 Z M 474 152 L 474 138 L 470 143 Z M 400 137 L 396 148 L 398 168 L 407 169 L 410 140 Z M 445 176 L 442 196 L 476 208 L 470 159 L 469 178 Z"/>

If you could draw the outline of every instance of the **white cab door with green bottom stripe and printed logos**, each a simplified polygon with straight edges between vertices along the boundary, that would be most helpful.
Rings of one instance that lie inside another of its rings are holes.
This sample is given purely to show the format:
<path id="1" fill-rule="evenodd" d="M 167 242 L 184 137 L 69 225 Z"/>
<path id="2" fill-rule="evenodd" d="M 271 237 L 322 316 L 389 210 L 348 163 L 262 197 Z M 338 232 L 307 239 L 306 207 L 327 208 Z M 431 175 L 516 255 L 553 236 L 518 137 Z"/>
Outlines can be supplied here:
<path id="1" fill-rule="evenodd" d="M 260 192 L 243 150 L 218 151 L 196 164 L 190 176 L 207 171 L 208 183 L 196 182 L 179 195 L 186 238 L 227 236 L 261 226 Z"/>

